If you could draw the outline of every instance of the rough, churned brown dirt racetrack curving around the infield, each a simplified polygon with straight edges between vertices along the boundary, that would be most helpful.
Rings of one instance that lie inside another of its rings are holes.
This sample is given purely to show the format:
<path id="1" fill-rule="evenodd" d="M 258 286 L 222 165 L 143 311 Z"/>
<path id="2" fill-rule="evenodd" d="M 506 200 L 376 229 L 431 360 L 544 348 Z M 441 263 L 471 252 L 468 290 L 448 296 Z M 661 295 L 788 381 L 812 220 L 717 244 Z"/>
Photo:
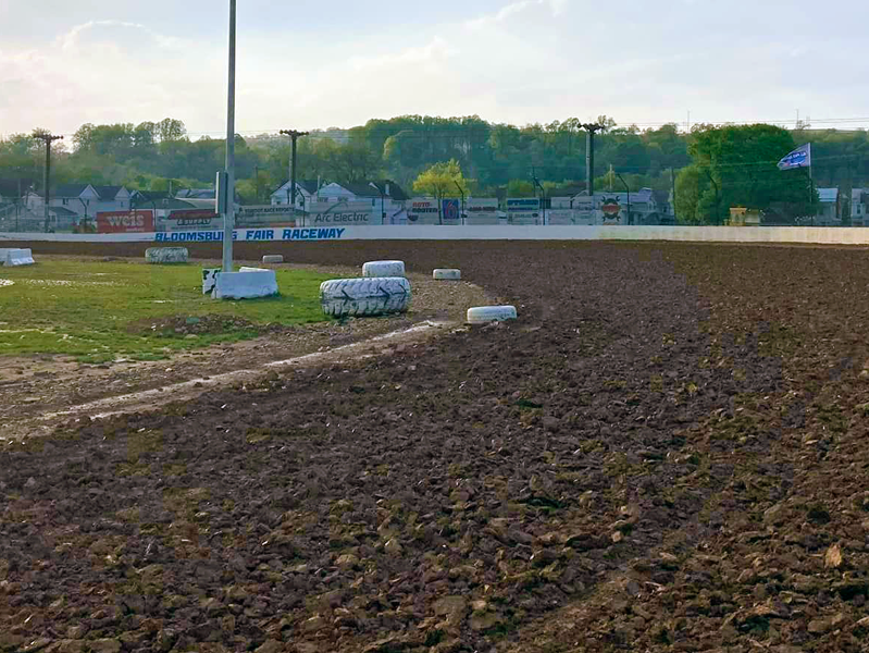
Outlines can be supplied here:
<path id="1" fill-rule="evenodd" d="M 7 445 L 0 651 L 869 650 L 869 251 L 236 254 L 520 320 Z"/>

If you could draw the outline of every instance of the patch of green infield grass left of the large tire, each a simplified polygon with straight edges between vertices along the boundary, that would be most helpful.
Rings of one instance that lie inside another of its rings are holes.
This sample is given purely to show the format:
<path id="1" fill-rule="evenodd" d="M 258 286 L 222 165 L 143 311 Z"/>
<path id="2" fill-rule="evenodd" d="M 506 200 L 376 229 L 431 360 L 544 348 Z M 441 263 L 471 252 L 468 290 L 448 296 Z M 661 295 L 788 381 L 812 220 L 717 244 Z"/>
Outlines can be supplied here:
<path id="1" fill-rule="evenodd" d="M 319 287 L 326 275 L 278 270 L 278 297 L 220 301 L 202 295 L 200 270 L 195 264 L 80 260 L 0 268 L 0 280 L 13 282 L 0 285 L 0 356 L 158 360 L 179 349 L 251 338 L 266 324 L 325 319 Z M 209 329 L 186 337 L 161 325 L 188 318 L 208 318 Z"/>

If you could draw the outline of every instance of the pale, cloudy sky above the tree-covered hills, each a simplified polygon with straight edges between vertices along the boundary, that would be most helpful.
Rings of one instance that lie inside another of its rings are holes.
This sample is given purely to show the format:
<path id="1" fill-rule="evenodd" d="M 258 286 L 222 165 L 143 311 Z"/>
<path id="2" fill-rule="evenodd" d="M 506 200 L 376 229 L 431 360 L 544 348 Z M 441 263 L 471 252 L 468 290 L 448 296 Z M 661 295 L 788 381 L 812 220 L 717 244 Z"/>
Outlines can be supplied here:
<path id="1" fill-rule="evenodd" d="M 220 136 L 228 0 L 0 0 L 0 134 L 171 116 Z M 797 110 L 823 126 L 869 116 L 867 25 L 865 0 L 238 0 L 237 131 Z"/>

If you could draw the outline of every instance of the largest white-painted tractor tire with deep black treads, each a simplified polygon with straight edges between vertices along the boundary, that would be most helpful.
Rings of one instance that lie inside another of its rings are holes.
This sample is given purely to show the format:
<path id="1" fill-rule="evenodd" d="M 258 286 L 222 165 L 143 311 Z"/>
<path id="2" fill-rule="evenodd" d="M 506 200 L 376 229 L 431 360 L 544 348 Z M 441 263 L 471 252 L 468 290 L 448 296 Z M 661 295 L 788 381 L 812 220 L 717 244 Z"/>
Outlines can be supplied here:
<path id="1" fill-rule="evenodd" d="M 333 279 L 320 284 L 320 304 L 325 315 L 335 318 L 405 312 L 410 283 L 404 276 Z"/>

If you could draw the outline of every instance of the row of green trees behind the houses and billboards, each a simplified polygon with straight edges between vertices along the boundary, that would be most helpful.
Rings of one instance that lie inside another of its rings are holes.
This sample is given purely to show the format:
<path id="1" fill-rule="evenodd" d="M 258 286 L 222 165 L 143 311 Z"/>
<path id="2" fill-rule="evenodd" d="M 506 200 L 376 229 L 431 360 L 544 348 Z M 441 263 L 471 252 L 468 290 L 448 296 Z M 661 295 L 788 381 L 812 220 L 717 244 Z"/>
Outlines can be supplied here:
<path id="1" fill-rule="evenodd" d="M 869 186 L 866 132 L 695 125 L 686 134 L 672 124 L 641 131 L 620 127 L 607 116 L 598 122 L 606 130 L 596 139 L 595 176 L 611 169 L 631 189 L 669 192 L 671 171 L 675 171 L 676 208 L 680 220 L 687 222 L 718 223 L 734 205 L 774 207 L 794 214 L 810 209 L 806 175 L 800 171 L 783 174 L 774 165 L 798 143 L 812 143 L 816 185 Z M 40 189 L 41 148 L 32 135 L 0 140 L 0 178 L 25 177 Z M 54 148 L 55 183 L 124 184 L 153 192 L 165 192 L 170 185 L 211 185 L 224 159 L 222 139 L 194 139 L 173 119 L 137 125 L 86 124 Z M 436 177 L 452 165 L 465 193 L 494 195 L 506 188 L 514 196 L 533 195 L 538 185 L 547 189 L 581 185 L 586 176 L 585 148 L 586 135 L 576 119 L 518 127 L 477 116 L 407 115 L 371 120 L 350 130 L 314 132 L 299 139 L 298 177 L 339 183 L 388 177 L 420 193 L 436 187 Z M 270 192 L 288 176 L 289 153 L 283 137 L 238 136 L 239 195 L 247 201 L 268 201 Z M 426 183 L 426 177 L 434 178 L 435 185 Z M 447 185 L 444 193 L 456 190 L 455 181 Z"/>

